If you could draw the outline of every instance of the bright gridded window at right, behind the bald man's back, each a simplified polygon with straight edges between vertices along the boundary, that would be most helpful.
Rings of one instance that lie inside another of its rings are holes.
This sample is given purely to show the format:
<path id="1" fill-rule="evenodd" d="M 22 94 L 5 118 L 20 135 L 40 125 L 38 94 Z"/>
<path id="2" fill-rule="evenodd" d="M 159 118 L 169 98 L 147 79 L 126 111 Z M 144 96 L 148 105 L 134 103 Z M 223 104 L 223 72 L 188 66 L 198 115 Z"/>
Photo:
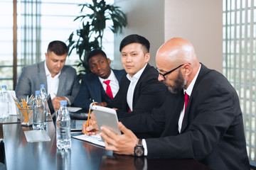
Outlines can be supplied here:
<path id="1" fill-rule="evenodd" d="M 255 8 L 254 0 L 223 0 L 223 74 L 240 98 L 251 164 L 255 164 L 256 155 Z"/>

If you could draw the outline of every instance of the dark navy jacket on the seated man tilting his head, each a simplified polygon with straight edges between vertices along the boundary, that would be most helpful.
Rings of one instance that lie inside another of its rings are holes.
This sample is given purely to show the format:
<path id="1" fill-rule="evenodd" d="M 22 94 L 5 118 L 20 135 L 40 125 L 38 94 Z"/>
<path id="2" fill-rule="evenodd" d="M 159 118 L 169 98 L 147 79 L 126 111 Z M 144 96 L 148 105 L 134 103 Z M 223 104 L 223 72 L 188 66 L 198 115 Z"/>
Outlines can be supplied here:
<path id="1" fill-rule="evenodd" d="M 126 72 L 124 71 L 124 69 L 112 69 L 112 71 L 114 72 L 114 76 L 117 78 L 117 81 L 119 82 L 120 86 L 120 80 Z M 74 106 L 84 108 L 86 111 L 88 111 L 90 103 L 92 103 L 92 99 L 98 103 L 103 102 L 101 90 L 102 88 L 103 87 L 100 83 L 100 79 L 96 74 L 85 74 L 82 77 L 82 85 L 80 91 L 78 92 L 78 96 L 76 96 L 75 98 Z"/>

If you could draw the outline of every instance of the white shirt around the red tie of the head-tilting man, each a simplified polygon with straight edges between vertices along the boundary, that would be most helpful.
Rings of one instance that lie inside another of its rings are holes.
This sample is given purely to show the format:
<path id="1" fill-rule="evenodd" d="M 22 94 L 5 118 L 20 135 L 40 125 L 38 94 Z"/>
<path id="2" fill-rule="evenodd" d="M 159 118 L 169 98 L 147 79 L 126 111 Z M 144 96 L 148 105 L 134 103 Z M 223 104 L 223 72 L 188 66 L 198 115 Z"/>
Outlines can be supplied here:
<path id="1" fill-rule="evenodd" d="M 110 76 L 107 77 L 107 79 L 102 79 L 101 77 L 99 77 L 100 79 L 100 83 L 102 84 L 103 89 L 106 91 L 107 89 L 107 84 L 105 84 L 103 81 L 107 81 L 110 80 L 110 88 L 113 94 L 113 97 L 116 96 L 117 91 L 119 90 L 119 83 L 117 78 L 114 76 L 114 72 L 111 69 L 111 73 Z"/>

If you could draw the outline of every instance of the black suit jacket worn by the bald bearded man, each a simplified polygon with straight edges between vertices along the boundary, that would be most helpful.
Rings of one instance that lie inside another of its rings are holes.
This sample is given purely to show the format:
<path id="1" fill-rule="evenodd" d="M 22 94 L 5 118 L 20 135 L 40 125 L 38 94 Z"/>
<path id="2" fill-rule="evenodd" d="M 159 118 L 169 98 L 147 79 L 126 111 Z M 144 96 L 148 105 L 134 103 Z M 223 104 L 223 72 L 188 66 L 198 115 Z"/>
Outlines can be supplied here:
<path id="1" fill-rule="evenodd" d="M 212 169 L 250 169 L 239 98 L 228 80 L 201 64 L 178 134 L 183 98 L 183 91 L 169 93 L 151 115 L 122 120 L 134 132 L 161 133 L 146 139 L 148 157 L 193 158 Z"/>

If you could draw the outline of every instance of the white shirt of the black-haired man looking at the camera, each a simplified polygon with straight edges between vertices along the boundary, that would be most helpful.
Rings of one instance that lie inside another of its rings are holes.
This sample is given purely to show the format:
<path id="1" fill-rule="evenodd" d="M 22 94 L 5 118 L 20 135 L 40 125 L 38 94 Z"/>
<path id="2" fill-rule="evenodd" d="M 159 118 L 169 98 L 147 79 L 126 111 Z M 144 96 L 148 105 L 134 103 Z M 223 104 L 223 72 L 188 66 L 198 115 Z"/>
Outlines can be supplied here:
<path id="1" fill-rule="evenodd" d="M 139 77 L 142 76 L 142 72 L 144 72 L 145 68 L 146 68 L 146 64 L 142 69 L 139 70 L 139 72 L 134 74 L 133 77 L 131 77 L 129 74 L 127 74 L 127 79 L 129 79 L 129 81 L 131 81 L 129 84 L 129 88 L 127 90 L 127 104 L 129 106 L 129 108 L 131 109 L 131 111 L 133 110 L 132 102 L 133 102 L 133 96 L 134 96 L 134 89 L 135 89 L 137 82 L 139 81 Z"/>

